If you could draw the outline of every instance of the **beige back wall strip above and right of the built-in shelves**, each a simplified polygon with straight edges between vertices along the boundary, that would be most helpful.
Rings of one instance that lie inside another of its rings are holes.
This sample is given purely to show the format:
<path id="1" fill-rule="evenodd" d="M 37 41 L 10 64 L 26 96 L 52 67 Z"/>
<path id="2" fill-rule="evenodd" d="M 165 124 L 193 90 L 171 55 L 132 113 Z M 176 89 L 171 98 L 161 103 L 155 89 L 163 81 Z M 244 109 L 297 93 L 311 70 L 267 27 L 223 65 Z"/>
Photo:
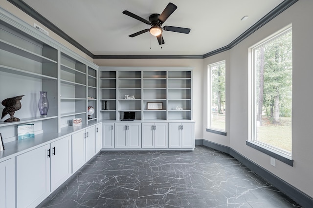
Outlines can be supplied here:
<path id="1" fill-rule="evenodd" d="M 195 138 L 203 138 L 203 59 L 93 59 L 98 66 L 182 66 L 192 67 L 193 72 L 193 120 L 195 125 Z"/>

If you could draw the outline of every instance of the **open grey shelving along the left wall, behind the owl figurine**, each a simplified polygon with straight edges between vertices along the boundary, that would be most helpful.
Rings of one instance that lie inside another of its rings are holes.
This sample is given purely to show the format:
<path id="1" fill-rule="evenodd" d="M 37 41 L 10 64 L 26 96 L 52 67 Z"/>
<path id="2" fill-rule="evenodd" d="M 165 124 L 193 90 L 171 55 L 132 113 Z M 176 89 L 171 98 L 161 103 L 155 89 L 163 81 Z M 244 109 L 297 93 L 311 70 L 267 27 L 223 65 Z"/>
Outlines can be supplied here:
<path id="1" fill-rule="evenodd" d="M 14 114 L 20 121 L 3 122 L 9 115 L 0 121 L 4 143 L 17 139 L 20 124 L 34 123 L 40 134 L 61 132 L 73 118 L 84 124 L 97 120 L 98 113 L 88 120 L 87 108 L 98 109 L 98 66 L 24 22 L 12 26 L 9 14 L 0 15 L 0 101 L 24 95 Z M 38 110 L 40 91 L 47 92 L 46 117 Z"/>

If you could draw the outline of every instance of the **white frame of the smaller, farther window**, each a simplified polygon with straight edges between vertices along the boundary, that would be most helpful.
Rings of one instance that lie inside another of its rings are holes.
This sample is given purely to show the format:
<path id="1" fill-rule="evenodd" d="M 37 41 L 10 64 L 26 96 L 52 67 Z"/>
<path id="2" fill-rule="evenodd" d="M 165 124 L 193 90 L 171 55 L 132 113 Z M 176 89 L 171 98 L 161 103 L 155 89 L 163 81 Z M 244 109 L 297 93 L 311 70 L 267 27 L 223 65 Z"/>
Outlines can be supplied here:
<path id="1" fill-rule="evenodd" d="M 223 129 L 215 129 L 211 127 L 211 108 L 212 108 L 212 70 L 211 67 L 218 66 L 224 64 L 225 65 L 225 99 L 226 99 L 226 60 L 221 60 L 218 62 L 214 62 L 212 64 L 207 65 L 207 128 L 206 132 L 211 132 L 211 133 L 216 133 L 220 135 L 226 136 L 226 119 L 225 119 L 225 127 Z M 226 109 L 226 102 L 225 102 L 225 109 Z M 226 113 L 225 113 L 225 118 L 226 118 Z"/>

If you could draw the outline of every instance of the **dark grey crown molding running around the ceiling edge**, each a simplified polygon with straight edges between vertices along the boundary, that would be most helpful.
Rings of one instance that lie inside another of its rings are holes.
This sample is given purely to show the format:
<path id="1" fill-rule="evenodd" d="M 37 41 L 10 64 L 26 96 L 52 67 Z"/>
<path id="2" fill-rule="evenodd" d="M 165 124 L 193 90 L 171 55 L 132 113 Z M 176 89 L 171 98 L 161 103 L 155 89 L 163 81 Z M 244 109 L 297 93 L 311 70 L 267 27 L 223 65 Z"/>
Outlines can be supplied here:
<path id="1" fill-rule="evenodd" d="M 241 34 L 238 38 L 234 39 L 231 43 L 228 45 L 219 48 L 217 50 L 208 52 L 204 55 L 93 55 L 89 50 L 87 50 L 85 47 L 83 47 L 81 44 L 79 44 L 76 40 L 69 37 L 65 32 L 63 32 L 60 28 L 55 26 L 52 22 L 50 22 L 48 19 L 45 19 L 41 14 L 39 14 L 37 11 L 35 11 L 33 8 L 31 8 L 28 4 L 26 4 L 22 0 L 7 0 L 10 3 L 14 4 L 16 7 L 21 9 L 23 12 L 31 16 L 32 18 L 36 19 L 45 27 L 49 28 L 52 32 L 59 35 L 61 38 L 64 38 L 67 42 L 74 45 L 76 48 L 87 54 L 91 58 L 102 58 L 102 59 L 160 59 L 160 58 L 206 58 L 210 57 L 219 53 L 222 53 L 224 51 L 227 51 L 231 48 L 233 48 L 235 45 L 243 41 L 245 38 L 250 36 L 252 33 L 254 33 L 256 30 L 261 28 L 263 25 L 268 23 L 271 19 L 275 18 L 277 15 L 288 9 L 292 4 L 297 2 L 298 0 L 284 0 L 282 3 L 280 3 L 278 6 L 276 6 L 274 9 L 272 9 L 266 16 L 264 16 L 262 19 L 257 21 L 254 25 L 252 25 L 249 29 L 247 29 L 243 34 Z"/>

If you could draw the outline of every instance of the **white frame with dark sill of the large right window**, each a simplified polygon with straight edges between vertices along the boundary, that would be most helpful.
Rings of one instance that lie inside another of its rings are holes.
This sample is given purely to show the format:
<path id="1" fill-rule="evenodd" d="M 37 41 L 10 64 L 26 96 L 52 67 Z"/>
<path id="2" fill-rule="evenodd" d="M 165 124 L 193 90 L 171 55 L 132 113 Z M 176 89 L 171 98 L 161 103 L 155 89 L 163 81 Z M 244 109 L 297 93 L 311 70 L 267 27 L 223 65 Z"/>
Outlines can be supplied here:
<path id="1" fill-rule="evenodd" d="M 273 146 L 270 146 L 266 143 L 260 142 L 256 139 L 256 77 L 255 77 L 255 53 L 254 50 L 268 44 L 269 42 L 280 38 L 281 36 L 286 35 L 287 33 L 292 32 L 292 25 L 288 25 L 281 30 L 277 31 L 276 33 L 272 34 L 271 36 L 268 36 L 267 38 L 261 40 L 257 44 L 251 46 L 249 48 L 249 72 L 250 72 L 250 110 L 249 110 L 249 138 L 246 141 L 246 145 L 249 147 L 252 147 L 258 151 L 261 151 L 263 153 L 268 154 L 270 157 L 273 157 L 277 160 L 280 160 L 290 166 L 293 166 L 293 159 L 292 159 L 292 151 L 291 153 L 287 151 L 280 150 L 278 148 L 275 148 Z M 292 41 L 292 40 L 291 40 Z M 292 120 L 292 117 L 291 117 Z M 292 139 L 292 137 L 291 137 Z"/>

